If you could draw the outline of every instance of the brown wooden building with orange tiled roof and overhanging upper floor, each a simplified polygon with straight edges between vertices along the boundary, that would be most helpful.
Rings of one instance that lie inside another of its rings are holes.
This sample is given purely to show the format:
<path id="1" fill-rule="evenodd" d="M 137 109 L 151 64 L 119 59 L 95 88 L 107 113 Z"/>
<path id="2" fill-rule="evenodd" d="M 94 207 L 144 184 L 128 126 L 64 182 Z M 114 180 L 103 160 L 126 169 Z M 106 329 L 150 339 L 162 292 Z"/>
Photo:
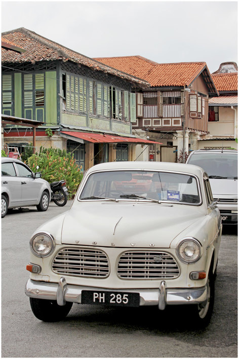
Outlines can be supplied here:
<path id="1" fill-rule="evenodd" d="M 208 134 L 209 101 L 218 96 L 206 63 L 159 64 L 141 56 L 96 59 L 150 83 L 137 93 L 133 132 L 163 143 L 152 144 L 141 160 L 185 161 Z"/>

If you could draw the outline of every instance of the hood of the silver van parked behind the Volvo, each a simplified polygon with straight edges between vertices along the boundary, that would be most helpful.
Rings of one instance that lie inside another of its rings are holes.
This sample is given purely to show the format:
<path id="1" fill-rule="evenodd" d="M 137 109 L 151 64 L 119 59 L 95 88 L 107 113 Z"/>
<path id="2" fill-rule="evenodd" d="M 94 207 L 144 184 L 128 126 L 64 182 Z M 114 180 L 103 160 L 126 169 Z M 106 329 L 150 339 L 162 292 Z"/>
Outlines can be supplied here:
<path id="1" fill-rule="evenodd" d="M 210 178 L 213 197 L 223 198 L 237 195 L 237 180 L 230 178 Z"/>

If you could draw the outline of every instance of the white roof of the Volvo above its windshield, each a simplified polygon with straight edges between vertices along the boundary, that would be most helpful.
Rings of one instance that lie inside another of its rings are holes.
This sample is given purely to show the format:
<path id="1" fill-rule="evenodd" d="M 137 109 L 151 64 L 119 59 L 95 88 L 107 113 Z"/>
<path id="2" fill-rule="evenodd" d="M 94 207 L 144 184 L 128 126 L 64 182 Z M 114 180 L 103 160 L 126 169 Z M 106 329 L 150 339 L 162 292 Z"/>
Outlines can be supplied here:
<path id="1" fill-rule="evenodd" d="M 175 171 L 190 173 L 197 176 L 201 176 L 204 170 L 201 167 L 195 165 L 189 165 L 185 163 L 174 163 L 174 162 L 154 162 L 154 161 L 122 161 L 122 162 L 106 162 L 100 163 L 88 170 L 89 172 L 94 171 L 108 171 L 108 170 L 151 170 L 151 171 Z"/>

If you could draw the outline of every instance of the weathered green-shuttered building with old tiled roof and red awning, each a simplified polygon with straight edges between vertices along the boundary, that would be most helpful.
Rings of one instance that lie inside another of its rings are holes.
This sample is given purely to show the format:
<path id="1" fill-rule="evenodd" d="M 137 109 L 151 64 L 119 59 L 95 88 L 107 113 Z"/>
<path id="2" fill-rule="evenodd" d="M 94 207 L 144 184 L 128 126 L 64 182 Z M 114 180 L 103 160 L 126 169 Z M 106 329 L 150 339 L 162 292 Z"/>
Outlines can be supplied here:
<path id="1" fill-rule="evenodd" d="M 43 123 L 36 151 L 65 149 L 84 169 L 135 160 L 136 146 L 151 145 L 132 133 L 136 91 L 148 85 L 25 28 L 2 33 L 2 114 Z M 31 128 L 7 125 L 2 146 L 24 147 L 31 138 Z"/>

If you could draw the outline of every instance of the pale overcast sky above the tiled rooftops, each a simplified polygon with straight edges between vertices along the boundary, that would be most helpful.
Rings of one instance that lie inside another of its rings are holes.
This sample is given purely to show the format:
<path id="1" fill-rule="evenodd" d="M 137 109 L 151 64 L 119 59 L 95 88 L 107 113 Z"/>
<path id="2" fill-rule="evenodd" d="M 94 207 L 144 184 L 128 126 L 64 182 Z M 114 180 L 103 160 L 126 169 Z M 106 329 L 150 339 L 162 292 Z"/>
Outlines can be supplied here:
<path id="1" fill-rule="evenodd" d="M 237 63 L 237 1 L 2 1 L 2 32 L 25 27 L 89 57 Z"/>

